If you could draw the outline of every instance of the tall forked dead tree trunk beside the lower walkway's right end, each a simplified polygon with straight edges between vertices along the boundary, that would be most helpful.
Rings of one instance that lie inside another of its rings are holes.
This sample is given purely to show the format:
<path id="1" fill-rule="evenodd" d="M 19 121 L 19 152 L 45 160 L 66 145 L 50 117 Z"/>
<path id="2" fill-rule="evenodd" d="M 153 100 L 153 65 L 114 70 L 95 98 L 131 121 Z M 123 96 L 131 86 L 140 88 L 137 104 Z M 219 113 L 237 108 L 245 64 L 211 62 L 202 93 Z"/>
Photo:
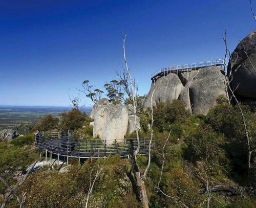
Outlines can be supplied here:
<path id="1" fill-rule="evenodd" d="M 127 34 L 123 34 L 123 58 L 124 58 L 124 65 L 125 65 L 125 70 L 127 72 L 127 77 L 129 78 L 129 85 L 130 85 L 130 89 L 129 92 L 131 93 L 131 97 L 132 97 L 132 101 L 133 101 L 133 114 L 134 114 L 134 124 L 136 127 L 136 137 L 137 137 L 137 148 L 135 151 L 133 151 L 133 143 L 131 141 L 131 149 L 130 149 L 130 158 L 131 158 L 131 164 L 132 164 L 132 170 L 133 170 L 133 174 L 135 175 L 136 178 L 136 187 L 137 187 L 137 195 L 143 205 L 144 208 L 149 207 L 149 202 L 148 202 L 148 198 L 147 198 L 147 193 L 146 193 L 146 187 L 145 187 L 145 178 L 146 178 L 146 174 L 147 171 L 150 167 L 150 163 L 151 163 L 151 144 L 152 144 L 152 140 L 153 140 L 153 128 L 152 129 L 152 133 L 151 133 L 151 140 L 150 140 L 150 145 L 149 145 L 149 149 L 148 149 L 148 163 L 147 163 L 147 167 L 144 171 L 144 173 L 141 172 L 140 168 L 138 167 L 137 164 L 137 156 L 139 154 L 140 151 L 140 140 L 139 140 L 139 129 L 138 129 L 138 121 L 137 121 L 137 87 L 136 87 L 136 83 L 135 80 L 132 79 L 131 73 L 130 73 L 130 68 L 127 64 L 127 60 L 126 60 L 126 55 L 125 55 L 125 40 L 126 40 L 126 36 Z M 152 95 L 153 97 L 153 95 Z M 153 126 L 153 107 L 152 107 L 152 126 Z"/>

